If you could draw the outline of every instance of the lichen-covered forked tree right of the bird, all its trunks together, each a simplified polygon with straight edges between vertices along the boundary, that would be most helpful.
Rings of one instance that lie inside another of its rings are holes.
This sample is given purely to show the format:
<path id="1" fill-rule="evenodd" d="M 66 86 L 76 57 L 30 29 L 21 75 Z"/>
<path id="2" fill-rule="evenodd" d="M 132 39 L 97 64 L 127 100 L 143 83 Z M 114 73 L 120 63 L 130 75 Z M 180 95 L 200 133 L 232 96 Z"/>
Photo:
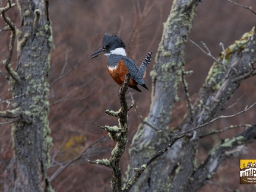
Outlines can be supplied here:
<path id="1" fill-rule="evenodd" d="M 189 4 L 190 2 L 190 4 Z M 184 43 L 192 25 L 197 1 L 174 1 L 165 23 L 162 41 L 156 56 L 153 76 L 153 95 L 147 124 L 141 124 L 132 141 L 127 178 L 134 175 L 134 168 L 143 165 L 154 153 L 166 145 L 177 85 L 184 64 Z M 178 133 L 206 123 L 217 116 L 245 78 L 255 75 L 252 64 L 256 61 L 255 28 L 229 46 L 208 73 L 204 87 L 194 103 L 194 109 L 185 116 Z M 219 158 L 226 150 L 251 142 L 248 132 L 226 139 L 216 146 L 203 165 L 197 167 L 198 136 L 203 128 L 194 132 L 193 139 L 177 140 L 172 148 L 147 167 L 131 191 L 197 191 L 204 181 L 211 178 L 219 165 Z M 250 129 L 254 132 L 253 129 Z M 255 133 L 254 133 L 255 134 Z M 227 147 L 228 146 L 228 147 Z M 226 147 L 226 148 L 225 148 Z M 204 174 L 203 174 L 204 173 Z M 198 182 L 198 175 L 202 175 Z"/>

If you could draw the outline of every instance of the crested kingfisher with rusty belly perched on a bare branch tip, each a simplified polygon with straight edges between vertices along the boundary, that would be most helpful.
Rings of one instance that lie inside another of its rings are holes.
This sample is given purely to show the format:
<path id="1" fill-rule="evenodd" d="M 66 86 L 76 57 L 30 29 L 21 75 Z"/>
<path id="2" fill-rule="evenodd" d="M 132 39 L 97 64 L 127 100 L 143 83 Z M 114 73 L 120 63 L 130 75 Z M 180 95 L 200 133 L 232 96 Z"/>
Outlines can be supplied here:
<path id="1" fill-rule="evenodd" d="M 146 77 L 146 67 L 151 62 L 152 52 L 148 52 L 144 57 L 144 60 L 138 68 L 136 63 L 127 57 L 125 52 L 125 43 L 121 37 L 116 33 L 112 35 L 105 33 L 102 40 L 102 47 L 89 56 L 89 59 L 93 59 L 99 55 L 107 56 L 107 68 L 110 76 L 119 86 L 124 83 L 125 75 L 131 74 L 128 87 L 141 92 L 137 85 L 147 88 L 144 82 Z"/>

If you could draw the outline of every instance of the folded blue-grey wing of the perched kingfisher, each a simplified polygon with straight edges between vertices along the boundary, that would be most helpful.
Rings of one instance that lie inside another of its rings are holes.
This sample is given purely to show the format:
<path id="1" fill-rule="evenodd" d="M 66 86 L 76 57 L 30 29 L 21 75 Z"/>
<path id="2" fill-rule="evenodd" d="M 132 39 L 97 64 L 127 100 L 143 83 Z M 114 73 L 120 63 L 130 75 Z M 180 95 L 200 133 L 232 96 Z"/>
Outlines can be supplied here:
<path id="1" fill-rule="evenodd" d="M 131 74 L 131 78 L 134 79 L 138 84 L 144 85 L 143 75 L 141 75 L 140 69 L 133 60 L 129 59 L 128 57 L 122 57 L 125 65 L 127 66 L 128 72 Z"/>

